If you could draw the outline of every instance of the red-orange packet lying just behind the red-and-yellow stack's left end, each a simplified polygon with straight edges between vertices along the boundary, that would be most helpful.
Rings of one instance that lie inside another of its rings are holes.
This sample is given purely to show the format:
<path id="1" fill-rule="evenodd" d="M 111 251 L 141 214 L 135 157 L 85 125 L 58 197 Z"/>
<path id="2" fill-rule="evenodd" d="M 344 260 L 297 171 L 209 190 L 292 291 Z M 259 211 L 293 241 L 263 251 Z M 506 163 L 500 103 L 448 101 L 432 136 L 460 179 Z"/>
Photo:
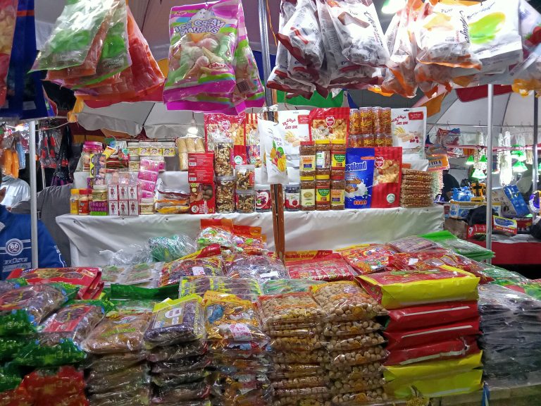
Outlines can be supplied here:
<path id="1" fill-rule="evenodd" d="M 361 275 L 383 271 L 396 251 L 383 244 L 363 244 L 337 250 Z"/>

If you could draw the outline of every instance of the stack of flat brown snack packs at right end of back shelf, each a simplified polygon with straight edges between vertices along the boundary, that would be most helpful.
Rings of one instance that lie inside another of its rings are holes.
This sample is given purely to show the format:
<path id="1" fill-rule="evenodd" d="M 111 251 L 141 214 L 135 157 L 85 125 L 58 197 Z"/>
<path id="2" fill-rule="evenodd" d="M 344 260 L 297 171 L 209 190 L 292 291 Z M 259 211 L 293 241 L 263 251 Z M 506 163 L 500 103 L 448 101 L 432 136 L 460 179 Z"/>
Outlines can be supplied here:
<path id="1" fill-rule="evenodd" d="M 402 169 L 400 206 L 429 207 L 433 204 L 433 175 L 430 172 Z"/>

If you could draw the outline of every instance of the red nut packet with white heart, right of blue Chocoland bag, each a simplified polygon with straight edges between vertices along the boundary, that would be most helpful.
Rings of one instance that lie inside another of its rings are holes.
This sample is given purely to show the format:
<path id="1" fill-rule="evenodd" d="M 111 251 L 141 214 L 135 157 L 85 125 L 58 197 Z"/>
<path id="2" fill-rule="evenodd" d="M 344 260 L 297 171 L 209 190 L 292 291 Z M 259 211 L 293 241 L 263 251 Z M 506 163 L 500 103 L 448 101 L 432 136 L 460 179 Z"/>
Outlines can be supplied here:
<path id="1" fill-rule="evenodd" d="M 372 205 L 375 208 L 399 207 L 402 183 L 402 148 L 377 147 L 374 149 L 374 180 Z"/>

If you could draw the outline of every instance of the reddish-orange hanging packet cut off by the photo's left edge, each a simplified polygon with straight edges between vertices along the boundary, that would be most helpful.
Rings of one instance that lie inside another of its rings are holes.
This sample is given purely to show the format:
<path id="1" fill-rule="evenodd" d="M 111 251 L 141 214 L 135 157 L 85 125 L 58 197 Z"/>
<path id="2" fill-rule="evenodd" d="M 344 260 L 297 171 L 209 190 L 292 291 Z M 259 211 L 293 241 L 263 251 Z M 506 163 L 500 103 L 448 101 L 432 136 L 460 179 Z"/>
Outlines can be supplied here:
<path id="1" fill-rule="evenodd" d="M 0 106 L 4 106 L 6 102 L 6 80 L 9 70 L 9 59 L 11 58 L 11 48 L 13 47 L 17 3 L 18 0 L 0 1 Z"/>

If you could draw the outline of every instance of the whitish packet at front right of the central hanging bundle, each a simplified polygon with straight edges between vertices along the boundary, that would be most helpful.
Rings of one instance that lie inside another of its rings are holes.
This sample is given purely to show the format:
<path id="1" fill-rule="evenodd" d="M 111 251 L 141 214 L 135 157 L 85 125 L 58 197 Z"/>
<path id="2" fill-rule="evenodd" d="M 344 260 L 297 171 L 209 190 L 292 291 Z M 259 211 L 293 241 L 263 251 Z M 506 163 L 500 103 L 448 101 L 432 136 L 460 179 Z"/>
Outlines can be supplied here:
<path id="1" fill-rule="evenodd" d="M 389 49 L 372 1 L 327 0 L 342 54 L 353 63 L 385 66 Z"/>

